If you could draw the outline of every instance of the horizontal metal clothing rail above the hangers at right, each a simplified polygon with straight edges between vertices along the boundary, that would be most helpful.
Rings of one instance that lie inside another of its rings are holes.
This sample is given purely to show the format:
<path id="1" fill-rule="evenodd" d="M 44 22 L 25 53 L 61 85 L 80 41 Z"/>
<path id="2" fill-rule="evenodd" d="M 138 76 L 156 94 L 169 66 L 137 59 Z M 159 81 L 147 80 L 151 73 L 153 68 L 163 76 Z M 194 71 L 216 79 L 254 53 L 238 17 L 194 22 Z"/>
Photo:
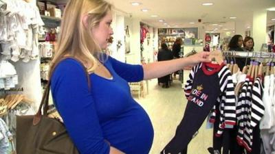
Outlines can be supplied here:
<path id="1" fill-rule="evenodd" d="M 256 57 L 256 58 L 274 58 L 275 53 L 267 51 L 222 51 L 225 57 Z"/>

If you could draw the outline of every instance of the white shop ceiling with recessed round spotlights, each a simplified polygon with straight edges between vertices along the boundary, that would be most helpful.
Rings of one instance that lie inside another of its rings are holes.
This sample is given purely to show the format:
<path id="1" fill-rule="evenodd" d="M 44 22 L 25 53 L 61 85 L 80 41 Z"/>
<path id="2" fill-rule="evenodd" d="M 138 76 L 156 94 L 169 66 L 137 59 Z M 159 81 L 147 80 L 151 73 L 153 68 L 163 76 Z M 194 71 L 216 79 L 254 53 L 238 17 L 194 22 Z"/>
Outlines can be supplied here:
<path id="1" fill-rule="evenodd" d="M 275 8 L 275 0 L 107 0 L 118 10 L 154 27 L 167 27 L 159 22 L 163 19 L 170 27 L 197 27 L 203 24 L 205 30 L 234 29 L 235 21 L 243 23 L 244 27 L 252 25 L 253 11 Z M 133 6 L 131 2 L 142 5 Z M 201 3 L 211 2 L 214 5 L 203 6 Z M 142 12 L 143 8 L 148 12 Z M 158 17 L 151 17 L 157 15 Z M 230 19 L 236 16 L 236 19 Z M 198 23 L 198 19 L 202 22 Z M 267 25 L 275 25 L 275 12 L 267 12 Z M 194 22 L 195 24 L 190 24 Z M 213 26 L 212 24 L 218 24 Z"/>

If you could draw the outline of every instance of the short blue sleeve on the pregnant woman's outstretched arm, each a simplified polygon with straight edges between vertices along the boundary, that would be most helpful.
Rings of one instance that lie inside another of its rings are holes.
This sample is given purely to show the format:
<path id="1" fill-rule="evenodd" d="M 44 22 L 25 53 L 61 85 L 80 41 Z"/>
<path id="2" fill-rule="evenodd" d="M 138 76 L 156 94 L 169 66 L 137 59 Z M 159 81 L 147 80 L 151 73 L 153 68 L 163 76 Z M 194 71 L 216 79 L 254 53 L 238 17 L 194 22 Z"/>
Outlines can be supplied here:
<path id="1" fill-rule="evenodd" d="M 144 72 L 142 65 L 126 64 L 115 60 L 113 57 L 108 57 L 115 73 L 120 75 L 128 82 L 137 82 L 144 79 Z"/>

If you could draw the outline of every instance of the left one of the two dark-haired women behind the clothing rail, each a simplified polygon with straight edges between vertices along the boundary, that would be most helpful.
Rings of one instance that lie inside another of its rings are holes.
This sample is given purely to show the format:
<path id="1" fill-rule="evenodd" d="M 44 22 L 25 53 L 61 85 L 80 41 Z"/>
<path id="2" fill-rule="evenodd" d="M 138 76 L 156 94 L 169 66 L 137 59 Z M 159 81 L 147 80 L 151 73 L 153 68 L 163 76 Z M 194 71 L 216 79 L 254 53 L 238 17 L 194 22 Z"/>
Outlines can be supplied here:
<path id="1" fill-rule="evenodd" d="M 229 44 L 228 50 L 229 51 L 243 51 L 243 36 L 241 35 L 234 35 Z M 239 66 L 240 70 L 243 70 L 243 67 L 250 62 L 250 58 L 246 57 L 236 57 L 236 64 Z"/>

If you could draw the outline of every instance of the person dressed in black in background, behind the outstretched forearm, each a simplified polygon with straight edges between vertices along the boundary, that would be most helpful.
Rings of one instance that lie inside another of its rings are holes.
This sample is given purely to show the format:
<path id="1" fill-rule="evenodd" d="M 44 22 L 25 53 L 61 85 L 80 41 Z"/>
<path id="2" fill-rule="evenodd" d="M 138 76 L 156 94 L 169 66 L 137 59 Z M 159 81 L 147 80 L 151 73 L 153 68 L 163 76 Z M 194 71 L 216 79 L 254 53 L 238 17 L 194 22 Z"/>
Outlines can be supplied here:
<path id="1" fill-rule="evenodd" d="M 167 47 L 165 42 L 161 45 L 162 49 L 159 50 L 157 53 L 157 61 L 164 61 L 164 60 L 173 60 L 173 53 Z M 170 75 L 166 75 L 164 77 L 157 78 L 158 83 L 163 83 L 162 88 L 169 88 L 170 86 Z"/>

